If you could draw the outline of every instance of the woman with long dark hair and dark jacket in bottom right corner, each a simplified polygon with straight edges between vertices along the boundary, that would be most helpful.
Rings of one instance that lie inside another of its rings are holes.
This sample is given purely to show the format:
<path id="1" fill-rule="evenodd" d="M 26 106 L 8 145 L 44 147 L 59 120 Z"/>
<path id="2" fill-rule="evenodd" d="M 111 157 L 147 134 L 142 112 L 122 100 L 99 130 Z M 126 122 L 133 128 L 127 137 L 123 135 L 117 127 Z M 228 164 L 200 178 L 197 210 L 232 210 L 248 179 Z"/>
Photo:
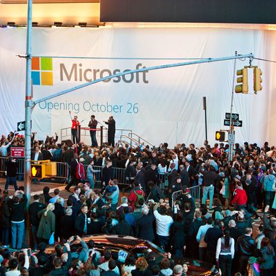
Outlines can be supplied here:
<path id="1" fill-rule="evenodd" d="M 261 262 L 262 276 L 273 276 L 275 252 L 267 237 L 262 239 L 260 253 L 259 262 Z"/>

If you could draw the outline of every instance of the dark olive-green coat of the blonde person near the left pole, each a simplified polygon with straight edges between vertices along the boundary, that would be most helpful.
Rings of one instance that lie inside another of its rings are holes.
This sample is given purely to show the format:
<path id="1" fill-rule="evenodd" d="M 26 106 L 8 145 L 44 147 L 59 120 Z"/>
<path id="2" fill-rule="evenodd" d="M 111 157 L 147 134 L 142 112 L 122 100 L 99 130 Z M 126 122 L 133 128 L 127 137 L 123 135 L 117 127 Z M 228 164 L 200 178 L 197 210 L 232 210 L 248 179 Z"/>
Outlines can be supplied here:
<path id="1" fill-rule="evenodd" d="M 44 213 L 46 209 L 41 210 L 37 215 L 40 218 L 39 229 L 37 230 L 37 237 L 42 239 L 50 239 L 52 233 L 55 232 L 55 214 L 48 210 L 47 215 Z"/>

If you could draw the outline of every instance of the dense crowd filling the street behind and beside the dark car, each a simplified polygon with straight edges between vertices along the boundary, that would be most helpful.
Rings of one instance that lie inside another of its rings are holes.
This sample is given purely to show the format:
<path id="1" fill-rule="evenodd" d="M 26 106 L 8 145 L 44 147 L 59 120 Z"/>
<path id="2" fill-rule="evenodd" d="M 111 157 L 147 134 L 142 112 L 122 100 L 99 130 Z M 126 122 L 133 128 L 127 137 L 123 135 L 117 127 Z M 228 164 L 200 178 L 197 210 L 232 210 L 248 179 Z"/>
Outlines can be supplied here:
<path id="1" fill-rule="evenodd" d="M 35 195 L 26 210 L 23 187 L 17 190 L 14 186 L 16 191 L 12 199 L 8 191 L 3 190 L 0 205 L 3 246 L 11 244 L 12 248 L 21 249 L 28 212 L 35 250 L 41 244 L 48 244 L 50 239 L 63 243 L 75 235 L 79 239 L 96 233 L 132 235 L 155 242 L 172 253 L 172 257 L 185 256 L 219 266 L 222 275 L 275 275 L 274 146 L 270 148 L 267 142 L 262 148 L 247 142 L 242 146 L 235 144 L 233 161 L 228 161 L 229 145 L 221 143 L 212 147 L 208 141 L 204 141 L 201 148 L 194 144 L 177 144 L 169 149 L 166 143 L 155 148 L 142 144 L 132 148 L 123 143 L 115 147 L 108 144 L 90 147 L 81 142 L 68 146 L 57 144 L 57 139 L 47 137 L 46 141 L 36 141 L 32 137 L 32 159 L 51 159 L 70 165 L 70 181 L 66 186 L 70 192 L 68 199 L 61 198 L 58 189 L 55 197 L 51 197 L 46 186 L 43 194 Z M 12 133 L 7 138 L 2 136 L 0 152 L 8 156 L 8 147 L 22 142 L 23 137 Z M 17 164 L 12 159 L 8 161 Z M 93 166 L 101 166 L 101 172 Z M 120 179 L 112 179 L 114 167 L 125 168 L 130 186 L 128 197 L 119 197 Z M 95 186 L 97 173 L 101 173 L 100 186 Z M 166 183 L 162 189 L 160 179 Z M 7 177 L 7 181 L 12 179 Z M 73 190 L 72 186 L 75 186 Z M 199 209 L 189 193 L 192 186 L 201 186 Z M 166 198 L 179 190 L 181 194 L 170 208 Z M 68 246 L 66 244 L 65 248 Z M 6 266 L 11 269 L 14 258 L 8 256 L 6 259 Z M 110 257 L 108 265 L 116 266 L 111 260 Z M 30 266 L 30 262 L 27 264 Z M 68 270 L 66 273 L 72 272 L 70 265 L 63 265 Z M 93 268 L 97 266 L 95 262 L 93 265 Z M 42 266 L 45 268 L 45 264 Z M 77 270 L 83 273 L 82 268 Z M 55 268 L 50 273 L 53 271 Z M 155 273 L 156 270 L 148 270 L 146 274 Z M 162 274 L 159 271 L 157 275 Z M 164 275 L 172 274 L 175 275 L 175 270 Z"/>

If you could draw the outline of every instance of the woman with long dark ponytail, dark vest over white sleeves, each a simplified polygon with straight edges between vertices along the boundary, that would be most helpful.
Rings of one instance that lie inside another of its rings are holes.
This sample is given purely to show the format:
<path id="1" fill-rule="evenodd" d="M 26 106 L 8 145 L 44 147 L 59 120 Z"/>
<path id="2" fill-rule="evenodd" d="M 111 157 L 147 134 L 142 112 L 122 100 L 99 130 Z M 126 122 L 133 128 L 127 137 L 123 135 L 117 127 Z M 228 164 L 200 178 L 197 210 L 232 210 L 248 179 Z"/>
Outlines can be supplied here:
<path id="1" fill-rule="evenodd" d="M 224 229 L 224 236 L 217 241 L 216 259 L 221 269 L 221 276 L 231 276 L 232 260 L 235 254 L 235 240 L 229 230 Z"/>

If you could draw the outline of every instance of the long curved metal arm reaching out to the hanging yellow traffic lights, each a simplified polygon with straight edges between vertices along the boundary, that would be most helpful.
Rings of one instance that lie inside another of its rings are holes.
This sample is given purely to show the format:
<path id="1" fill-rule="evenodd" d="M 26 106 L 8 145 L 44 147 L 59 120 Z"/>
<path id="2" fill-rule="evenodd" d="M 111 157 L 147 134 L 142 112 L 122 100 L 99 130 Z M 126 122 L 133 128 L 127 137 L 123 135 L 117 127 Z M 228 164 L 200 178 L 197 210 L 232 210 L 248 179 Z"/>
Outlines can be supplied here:
<path id="1" fill-rule="evenodd" d="M 120 76 L 124 76 L 124 75 L 129 75 L 129 74 L 133 74 L 133 73 L 137 73 L 137 72 L 147 72 L 147 71 L 151 71 L 151 70 L 159 70 L 159 69 L 164 69 L 164 68 L 172 68 L 172 67 L 179 67 L 179 66 L 187 66 L 187 65 L 193 65 L 193 64 L 199 64 L 199 63 L 209 63 L 209 62 L 215 62 L 215 61 L 228 61 L 231 59 L 243 59 L 246 57 L 251 57 L 253 58 L 254 55 L 252 53 L 248 54 L 248 55 L 239 55 L 239 56 L 233 56 L 233 57 L 218 57 L 216 59 L 201 59 L 199 61 L 189 61 L 189 62 L 181 62 L 181 63 L 172 63 L 172 64 L 165 64 L 165 65 L 161 65 L 161 66 L 152 66 L 152 67 L 145 67 L 145 68 L 140 68 L 140 69 L 135 69 L 135 70 L 130 70 L 130 71 L 124 71 L 124 72 L 120 72 L 118 74 L 115 75 L 110 75 L 107 77 L 103 77 L 101 79 L 95 79 L 94 81 L 90 81 L 87 83 L 83 83 L 79 86 L 75 86 L 73 88 L 67 89 L 67 90 L 63 90 L 60 92 L 57 92 L 53 95 L 49 95 L 48 97 L 44 97 L 42 99 L 37 99 L 37 101 L 34 101 L 34 105 L 37 103 L 41 103 L 42 101 L 48 101 L 49 99 L 53 99 L 55 97 L 67 94 L 69 92 L 78 90 L 80 88 L 84 88 L 86 86 L 90 86 L 91 84 L 94 83 L 98 83 L 101 81 L 106 81 L 107 79 L 113 79 L 115 77 L 120 77 Z"/>

